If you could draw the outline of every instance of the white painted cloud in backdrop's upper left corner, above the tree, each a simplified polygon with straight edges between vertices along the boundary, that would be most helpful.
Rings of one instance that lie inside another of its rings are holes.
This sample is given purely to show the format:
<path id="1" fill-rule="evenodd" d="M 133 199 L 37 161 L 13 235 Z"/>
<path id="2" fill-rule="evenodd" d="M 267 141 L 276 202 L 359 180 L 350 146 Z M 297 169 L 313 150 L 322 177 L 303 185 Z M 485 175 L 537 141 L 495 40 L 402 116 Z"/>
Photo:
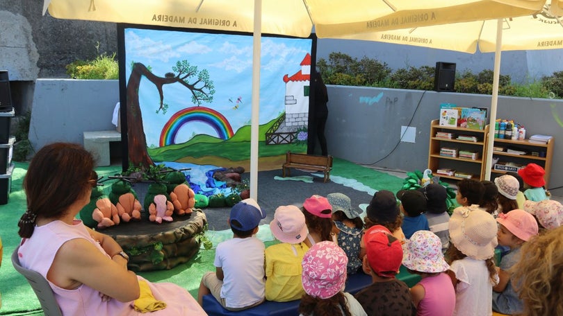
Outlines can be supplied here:
<path id="1" fill-rule="evenodd" d="M 154 41 L 148 37 L 139 37 L 133 31 L 125 37 L 125 47 L 127 52 L 133 52 L 135 58 L 142 58 L 143 60 L 161 60 L 168 62 L 171 58 L 179 58 L 179 53 L 172 50 L 172 46 L 164 44 L 161 41 Z"/>

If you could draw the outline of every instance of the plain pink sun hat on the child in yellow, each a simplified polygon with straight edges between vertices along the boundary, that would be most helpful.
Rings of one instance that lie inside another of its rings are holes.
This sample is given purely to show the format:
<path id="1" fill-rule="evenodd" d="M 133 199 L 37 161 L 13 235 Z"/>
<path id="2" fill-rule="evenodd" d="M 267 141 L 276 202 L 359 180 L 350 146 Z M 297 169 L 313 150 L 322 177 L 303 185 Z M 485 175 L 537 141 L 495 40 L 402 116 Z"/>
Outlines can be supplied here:
<path id="1" fill-rule="evenodd" d="M 272 234 L 282 243 L 301 243 L 309 231 L 303 212 L 295 205 L 278 207 L 270 222 Z"/>

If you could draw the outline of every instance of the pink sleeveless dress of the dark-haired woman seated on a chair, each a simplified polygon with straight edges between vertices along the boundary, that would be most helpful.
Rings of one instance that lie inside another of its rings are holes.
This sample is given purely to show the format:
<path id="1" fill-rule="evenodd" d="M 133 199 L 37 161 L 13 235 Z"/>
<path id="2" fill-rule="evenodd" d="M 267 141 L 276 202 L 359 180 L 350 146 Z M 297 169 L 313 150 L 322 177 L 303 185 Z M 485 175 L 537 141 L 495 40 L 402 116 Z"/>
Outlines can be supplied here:
<path id="1" fill-rule="evenodd" d="M 47 225 L 35 227 L 31 238 L 22 239 L 18 252 L 19 261 L 23 267 L 35 270 L 47 279 L 47 272 L 58 248 L 74 238 L 84 238 L 106 254 L 92 239 L 81 220 L 75 220 L 74 225 L 55 220 Z M 138 279 L 145 280 L 139 276 Z M 151 315 L 206 315 L 197 301 L 183 288 L 172 283 L 147 283 L 155 299 L 167 304 L 166 308 L 150 313 Z M 49 284 L 63 315 L 141 315 L 133 309 L 133 301 L 101 301 L 99 292 L 84 284 L 74 290 L 59 288 L 50 281 Z"/>

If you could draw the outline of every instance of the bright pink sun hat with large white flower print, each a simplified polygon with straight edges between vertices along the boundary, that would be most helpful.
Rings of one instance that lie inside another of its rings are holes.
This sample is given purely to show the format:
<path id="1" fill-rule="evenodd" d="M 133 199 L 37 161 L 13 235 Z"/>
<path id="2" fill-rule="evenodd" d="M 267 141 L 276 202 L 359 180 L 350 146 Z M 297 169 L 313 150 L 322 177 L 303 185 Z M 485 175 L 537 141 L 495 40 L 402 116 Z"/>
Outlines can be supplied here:
<path id="1" fill-rule="evenodd" d="M 311 297 L 328 299 L 344 290 L 348 257 L 332 241 L 321 241 L 303 256 L 303 289 Z"/>

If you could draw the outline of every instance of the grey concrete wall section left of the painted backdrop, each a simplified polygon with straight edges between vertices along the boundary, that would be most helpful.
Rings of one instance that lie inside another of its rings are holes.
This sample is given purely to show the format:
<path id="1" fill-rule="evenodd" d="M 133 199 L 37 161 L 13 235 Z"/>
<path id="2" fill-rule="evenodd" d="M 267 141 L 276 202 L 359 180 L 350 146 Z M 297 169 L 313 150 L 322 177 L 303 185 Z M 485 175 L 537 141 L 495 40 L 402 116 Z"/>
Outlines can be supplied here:
<path id="1" fill-rule="evenodd" d="M 83 132 L 115 130 L 117 80 L 38 79 L 28 138 L 33 150 L 47 143 L 83 144 Z"/>

